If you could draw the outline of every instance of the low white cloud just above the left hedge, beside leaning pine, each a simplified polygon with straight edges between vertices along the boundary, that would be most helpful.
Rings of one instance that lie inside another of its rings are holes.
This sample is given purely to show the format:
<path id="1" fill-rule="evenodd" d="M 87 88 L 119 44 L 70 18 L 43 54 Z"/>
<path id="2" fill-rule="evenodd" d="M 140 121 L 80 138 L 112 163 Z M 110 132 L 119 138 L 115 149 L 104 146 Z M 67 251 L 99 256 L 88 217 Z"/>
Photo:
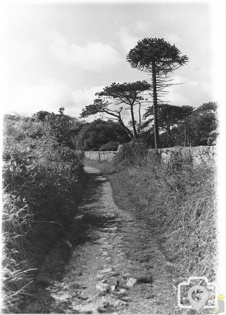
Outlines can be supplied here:
<path id="1" fill-rule="evenodd" d="M 39 85 L 24 84 L 5 95 L 4 113 L 31 115 L 41 110 L 57 113 L 60 107 L 65 107 L 65 114 L 79 117 L 82 108 L 91 104 L 96 98 L 95 93 L 103 88 L 104 86 L 92 86 L 72 90 L 65 83 L 55 79 L 42 81 Z"/>

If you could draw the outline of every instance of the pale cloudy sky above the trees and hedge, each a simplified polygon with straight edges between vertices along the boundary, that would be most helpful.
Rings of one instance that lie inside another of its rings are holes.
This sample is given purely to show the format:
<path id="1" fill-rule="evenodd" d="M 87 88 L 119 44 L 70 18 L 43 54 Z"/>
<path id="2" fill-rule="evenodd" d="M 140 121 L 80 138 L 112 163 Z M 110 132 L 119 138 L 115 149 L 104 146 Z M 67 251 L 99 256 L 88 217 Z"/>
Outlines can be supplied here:
<path id="1" fill-rule="evenodd" d="M 210 2 L 55 2 L 5 6 L 3 107 L 78 117 L 113 82 L 148 80 L 126 55 L 144 37 L 164 38 L 189 57 L 164 101 L 200 106 L 214 94 L 217 17 Z M 214 26 L 215 24 L 215 26 Z M 93 117 L 91 117 L 93 119 Z M 127 117 L 125 117 L 126 119 Z"/>

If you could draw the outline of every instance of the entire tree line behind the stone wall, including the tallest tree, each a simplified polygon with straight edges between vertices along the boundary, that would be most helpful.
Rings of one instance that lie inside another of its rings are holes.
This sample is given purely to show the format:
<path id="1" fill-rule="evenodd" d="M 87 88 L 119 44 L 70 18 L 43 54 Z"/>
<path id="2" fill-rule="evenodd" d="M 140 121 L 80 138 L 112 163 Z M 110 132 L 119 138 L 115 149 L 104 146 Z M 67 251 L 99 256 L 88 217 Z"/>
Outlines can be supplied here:
<path id="1" fill-rule="evenodd" d="M 127 54 L 127 61 L 133 68 L 148 73 L 151 83 L 114 82 L 95 93 L 97 98 L 82 109 L 80 118 L 98 114 L 99 119 L 87 123 L 65 115 L 61 107 L 59 114 L 39 111 L 31 120 L 47 123 L 61 146 L 77 150 L 114 151 L 119 144 L 133 139 L 155 149 L 215 144 L 217 102 L 204 103 L 195 109 L 162 101 L 168 95 L 167 88 L 174 85 L 168 74 L 188 62 L 186 55 L 181 56 L 179 49 L 163 38 L 144 38 Z M 123 121 L 125 114 L 130 117 L 128 124 Z"/>

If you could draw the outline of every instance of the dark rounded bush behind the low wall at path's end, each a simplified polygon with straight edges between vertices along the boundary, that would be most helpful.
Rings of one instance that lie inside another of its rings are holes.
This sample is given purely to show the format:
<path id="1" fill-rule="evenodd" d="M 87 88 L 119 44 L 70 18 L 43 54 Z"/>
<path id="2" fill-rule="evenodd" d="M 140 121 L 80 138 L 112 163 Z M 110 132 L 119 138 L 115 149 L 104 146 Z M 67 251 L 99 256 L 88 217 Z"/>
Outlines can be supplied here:
<path id="1" fill-rule="evenodd" d="M 114 146 L 117 143 L 118 147 L 119 144 L 129 140 L 127 132 L 118 122 L 110 119 L 107 121 L 96 119 L 92 123 L 83 125 L 78 136 L 78 146 L 85 151 L 109 151 L 103 150 L 103 146 L 114 142 Z"/>

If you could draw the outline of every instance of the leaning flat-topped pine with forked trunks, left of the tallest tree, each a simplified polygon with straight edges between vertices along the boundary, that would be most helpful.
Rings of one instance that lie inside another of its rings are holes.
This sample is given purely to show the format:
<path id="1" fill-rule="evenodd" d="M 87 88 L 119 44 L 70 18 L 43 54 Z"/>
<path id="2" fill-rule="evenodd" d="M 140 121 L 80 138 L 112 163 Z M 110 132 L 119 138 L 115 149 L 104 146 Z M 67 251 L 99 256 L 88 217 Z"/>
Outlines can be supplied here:
<path id="1" fill-rule="evenodd" d="M 90 115 L 102 113 L 104 118 L 118 120 L 120 125 L 127 131 L 131 138 L 138 139 L 140 135 L 141 125 L 141 106 L 147 104 L 147 99 L 143 93 L 150 90 L 151 85 L 147 81 L 137 81 L 133 83 L 112 83 L 104 88 L 102 92 L 95 93 L 97 99 L 82 109 L 81 117 L 85 118 Z M 123 106 L 124 104 L 124 106 Z M 113 107 L 114 106 L 114 107 Z M 134 117 L 134 108 L 138 107 L 138 120 L 136 128 L 136 120 Z M 121 111 L 129 110 L 132 119 L 133 132 L 125 126 L 122 120 Z M 105 117 L 104 115 L 108 115 Z"/>

